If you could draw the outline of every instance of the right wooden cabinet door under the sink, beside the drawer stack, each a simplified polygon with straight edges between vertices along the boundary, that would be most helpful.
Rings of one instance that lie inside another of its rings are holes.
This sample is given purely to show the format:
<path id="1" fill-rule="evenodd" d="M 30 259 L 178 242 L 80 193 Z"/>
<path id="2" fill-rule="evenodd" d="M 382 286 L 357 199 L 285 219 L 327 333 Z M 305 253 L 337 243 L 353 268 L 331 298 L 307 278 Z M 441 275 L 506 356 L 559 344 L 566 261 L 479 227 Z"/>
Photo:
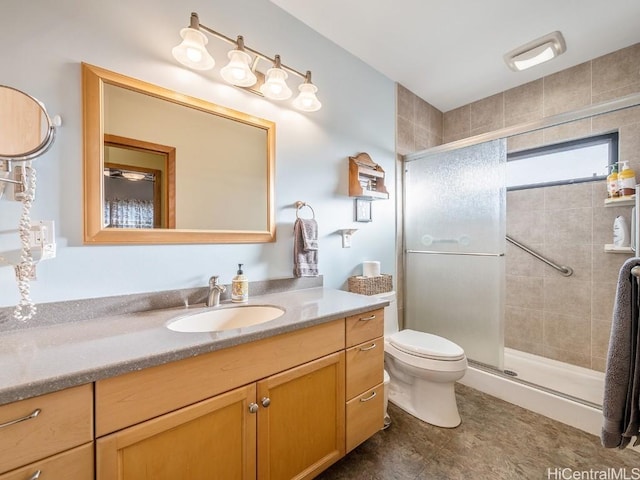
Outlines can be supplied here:
<path id="1" fill-rule="evenodd" d="M 344 358 L 334 353 L 258 382 L 260 480 L 313 478 L 344 455 Z"/>

